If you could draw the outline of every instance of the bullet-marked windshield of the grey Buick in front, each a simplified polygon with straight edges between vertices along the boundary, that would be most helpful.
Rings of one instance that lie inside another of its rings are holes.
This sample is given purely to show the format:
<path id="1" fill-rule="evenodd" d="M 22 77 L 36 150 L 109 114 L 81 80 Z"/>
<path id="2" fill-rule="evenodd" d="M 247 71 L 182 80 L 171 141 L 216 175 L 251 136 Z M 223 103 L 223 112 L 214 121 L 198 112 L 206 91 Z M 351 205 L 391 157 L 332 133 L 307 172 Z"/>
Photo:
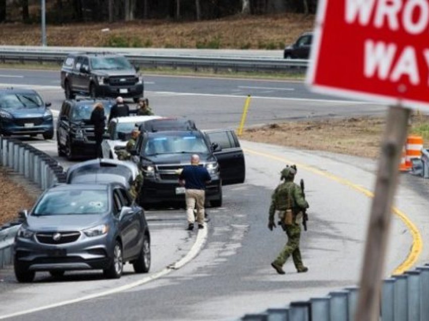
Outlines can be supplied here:
<path id="1" fill-rule="evenodd" d="M 100 214 L 109 209 L 106 190 L 71 189 L 51 191 L 38 202 L 32 215 Z"/>

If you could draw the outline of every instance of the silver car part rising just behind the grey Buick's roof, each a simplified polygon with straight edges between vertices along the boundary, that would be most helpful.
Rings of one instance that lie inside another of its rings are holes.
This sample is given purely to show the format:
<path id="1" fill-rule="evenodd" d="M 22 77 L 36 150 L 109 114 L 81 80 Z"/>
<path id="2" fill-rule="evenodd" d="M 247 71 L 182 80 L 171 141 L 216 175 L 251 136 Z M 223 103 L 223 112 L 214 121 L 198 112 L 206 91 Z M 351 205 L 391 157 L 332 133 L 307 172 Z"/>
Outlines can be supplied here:
<path id="1" fill-rule="evenodd" d="M 121 183 L 127 189 L 137 178 L 138 168 L 132 162 L 96 158 L 75 164 L 67 170 L 67 184 Z"/>

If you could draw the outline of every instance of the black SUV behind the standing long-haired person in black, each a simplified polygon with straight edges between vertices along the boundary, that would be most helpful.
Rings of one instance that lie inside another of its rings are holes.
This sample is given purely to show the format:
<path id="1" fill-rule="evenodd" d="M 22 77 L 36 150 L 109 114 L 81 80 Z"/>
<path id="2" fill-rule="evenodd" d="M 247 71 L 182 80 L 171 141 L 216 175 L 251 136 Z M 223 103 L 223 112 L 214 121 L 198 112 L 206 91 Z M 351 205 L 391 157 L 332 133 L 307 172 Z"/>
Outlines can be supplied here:
<path id="1" fill-rule="evenodd" d="M 59 156 L 67 156 L 68 159 L 95 156 L 94 126 L 89 124 L 89 119 L 96 102 L 103 104 L 108 119 L 114 100 L 64 100 L 57 123 Z"/>

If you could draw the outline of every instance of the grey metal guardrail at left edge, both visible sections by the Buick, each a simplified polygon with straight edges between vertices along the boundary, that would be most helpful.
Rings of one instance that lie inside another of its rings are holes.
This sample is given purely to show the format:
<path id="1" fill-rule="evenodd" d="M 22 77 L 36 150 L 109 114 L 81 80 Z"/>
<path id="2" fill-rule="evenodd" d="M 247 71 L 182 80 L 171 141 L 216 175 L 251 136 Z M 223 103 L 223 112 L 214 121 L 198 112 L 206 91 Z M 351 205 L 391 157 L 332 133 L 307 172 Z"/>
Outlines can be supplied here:
<path id="1" fill-rule="evenodd" d="M 23 175 L 41 190 L 66 181 L 63 167 L 55 159 L 17 139 L 0 136 L 0 166 Z M 12 263 L 12 245 L 20 225 L 16 220 L 0 226 L 0 269 Z"/>

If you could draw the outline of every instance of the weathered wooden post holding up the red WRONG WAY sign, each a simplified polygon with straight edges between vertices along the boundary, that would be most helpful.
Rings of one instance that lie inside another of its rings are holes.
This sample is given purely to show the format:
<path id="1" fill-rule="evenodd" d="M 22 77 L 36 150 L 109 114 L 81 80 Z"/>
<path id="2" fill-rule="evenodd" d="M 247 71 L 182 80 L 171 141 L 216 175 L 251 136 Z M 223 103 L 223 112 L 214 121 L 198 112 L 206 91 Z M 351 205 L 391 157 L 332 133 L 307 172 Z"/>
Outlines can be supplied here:
<path id="1" fill-rule="evenodd" d="M 398 168 L 402 146 L 407 136 L 409 117 L 409 109 L 400 107 L 389 109 L 366 236 L 355 321 L 380 319 L 380 293 L 392 203 L 398 183 Z"/>

